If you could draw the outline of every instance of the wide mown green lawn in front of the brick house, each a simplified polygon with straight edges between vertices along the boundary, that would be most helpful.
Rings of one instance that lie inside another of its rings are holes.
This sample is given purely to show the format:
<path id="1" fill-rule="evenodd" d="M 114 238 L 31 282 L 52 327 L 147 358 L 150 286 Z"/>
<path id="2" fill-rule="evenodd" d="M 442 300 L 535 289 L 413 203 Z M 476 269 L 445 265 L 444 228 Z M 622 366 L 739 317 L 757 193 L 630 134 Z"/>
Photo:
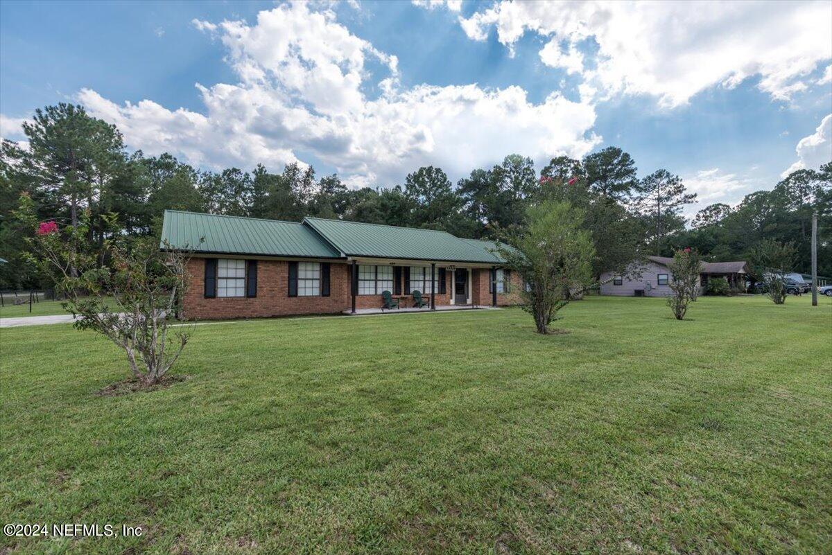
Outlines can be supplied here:
<path id="1" fill-rule="evenodd" d="M 830 299 L 562 315 L 211 324 L 118 397 L 92 332 L 3 329 L 2 522 L 146 534 L 0 553 L 828 553 Z"/>

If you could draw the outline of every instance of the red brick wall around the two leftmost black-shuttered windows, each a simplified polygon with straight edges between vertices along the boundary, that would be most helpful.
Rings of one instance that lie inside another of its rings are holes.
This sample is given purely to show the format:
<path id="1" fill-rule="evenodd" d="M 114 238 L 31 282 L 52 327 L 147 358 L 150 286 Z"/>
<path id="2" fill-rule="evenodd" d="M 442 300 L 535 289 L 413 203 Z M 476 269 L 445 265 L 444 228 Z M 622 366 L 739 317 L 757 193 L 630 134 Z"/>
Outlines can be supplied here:
<path id="1" fill-rule="evenodd" d="M 205 258 L 191 258 L 191 284 L 183 301 L 186 318 L 223 319 L 324 314 L 347 310 L 349 273 L 347 264 L 329 268 L 329 297 L 289 297 L 289 263 L 285 260 L 257 261 L 257 297 L 205 298 Z"/>

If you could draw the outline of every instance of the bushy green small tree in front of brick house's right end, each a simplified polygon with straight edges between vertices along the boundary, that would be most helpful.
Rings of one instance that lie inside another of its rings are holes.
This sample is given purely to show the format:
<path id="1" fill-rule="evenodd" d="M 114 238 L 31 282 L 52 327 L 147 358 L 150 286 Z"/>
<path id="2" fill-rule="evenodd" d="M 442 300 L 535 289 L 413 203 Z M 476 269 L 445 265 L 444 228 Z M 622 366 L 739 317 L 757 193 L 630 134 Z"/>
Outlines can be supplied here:
<path id="1" fill-rule="evenodd" d="M 520 233 L 505 237 L 498 253 L 522 278 L 522 308 L 534 317 L 537 332 L 547 334 L 570 290 L 592 281 L 592 235 L 581 228 L 583 214 L 568 202 L 547 201 L 527 209 Z"/>

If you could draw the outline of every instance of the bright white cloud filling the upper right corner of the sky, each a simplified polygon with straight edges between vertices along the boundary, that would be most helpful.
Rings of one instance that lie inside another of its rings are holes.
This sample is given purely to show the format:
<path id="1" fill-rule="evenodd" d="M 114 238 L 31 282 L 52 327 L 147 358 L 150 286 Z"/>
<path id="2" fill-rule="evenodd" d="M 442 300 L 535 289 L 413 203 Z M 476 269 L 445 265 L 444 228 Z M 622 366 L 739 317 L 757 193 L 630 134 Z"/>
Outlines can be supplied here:
<path id="1" fill-rule="evenodd" d="M 580 71 L 582 94 L 652 95 L 669 107 L 751 76 L 789 100 L 832 59 L 832 2 L 497 2 L 460 23 L 478 41 L 496 29 L 510 50 L 526 32 L 543 37 L 542 61 Z M 581 70 L 560 43 L 587 41 L 597 55 Z"/>

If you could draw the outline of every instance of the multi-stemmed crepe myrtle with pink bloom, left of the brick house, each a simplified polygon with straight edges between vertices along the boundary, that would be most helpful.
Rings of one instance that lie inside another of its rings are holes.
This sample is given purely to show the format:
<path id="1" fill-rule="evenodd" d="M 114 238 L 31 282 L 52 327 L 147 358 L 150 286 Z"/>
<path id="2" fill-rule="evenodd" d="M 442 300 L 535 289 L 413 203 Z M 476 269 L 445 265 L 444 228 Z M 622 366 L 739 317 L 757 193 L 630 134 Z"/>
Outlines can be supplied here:
<path id="1" fill-rule="evenodd" d="M 105 215 L 108 225 L 115 214 Z M 131 375 L 153 386 L 174 365 L 191 337 L 191 327 L 171 329 L 176 305 L 186 290 L 187 251 L 166 248 L 152 238 L 108 233 L 102 248 L 88 240 L 89 214 L 75 226 L 54 221 L 37 225 L 29 261 L 67 298 L 74 327 L 92 330 L 125 351 Z"/>

